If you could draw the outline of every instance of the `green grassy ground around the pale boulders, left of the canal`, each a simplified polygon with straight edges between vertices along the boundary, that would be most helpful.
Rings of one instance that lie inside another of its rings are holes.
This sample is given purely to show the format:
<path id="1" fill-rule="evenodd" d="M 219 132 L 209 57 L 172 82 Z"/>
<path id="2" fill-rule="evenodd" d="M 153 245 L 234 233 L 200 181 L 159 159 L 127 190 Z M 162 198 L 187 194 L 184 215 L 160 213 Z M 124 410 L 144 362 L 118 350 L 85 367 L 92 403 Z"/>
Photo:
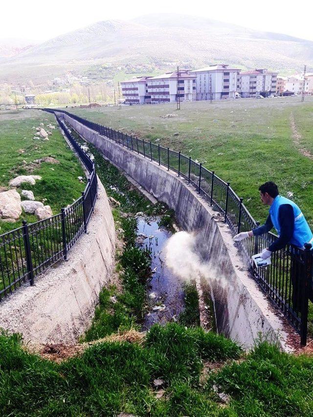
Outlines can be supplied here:
<path id="1" fill-rule="evenodd" d="M 51 130 L 49 141 L 33 140 L 37 127 L 43 123 L 56 129 Z M 44 157 L 53 157 L 59 164 L 42 163 L 32 169 L 32 162 Z M 84 171 L 72 150 L 57 128 L 55 118 L 39 110 L 18 110 L 0 114 L 0 186 L 7 187 L 10 179 L 18 175 L 41 175 L 42 180 L 36 185 L 25 184 L 20 189 L 32 190 L 37 201 L 46 198 L 45 204 L 51 206 L 53 213 L 59 213 L 62 207 L 78 198 L 86 184 L 77 179 L 85 178 Z M 23 198 L 23 197 L 22 197 Z M 0 221 L 0 233 L 22 225 L 22 218 L 29 222 L 36 221 L 32 215 L 22 214 L 16 223 Z"/>

